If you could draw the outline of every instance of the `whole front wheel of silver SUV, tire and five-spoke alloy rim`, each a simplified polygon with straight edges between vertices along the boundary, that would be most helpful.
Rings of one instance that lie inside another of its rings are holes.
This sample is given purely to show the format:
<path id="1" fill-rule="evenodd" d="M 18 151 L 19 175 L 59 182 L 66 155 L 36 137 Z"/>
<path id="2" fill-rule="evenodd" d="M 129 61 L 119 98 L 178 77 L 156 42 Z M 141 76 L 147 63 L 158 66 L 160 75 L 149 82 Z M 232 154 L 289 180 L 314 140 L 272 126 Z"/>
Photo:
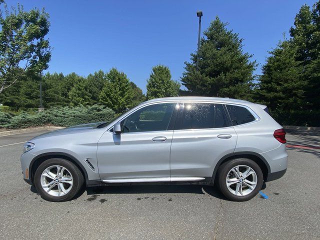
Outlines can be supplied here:
<path id="1" fill-rule="evenodd" d="M 34 174 L 35 188 L 48 201 L 72 199 L 83 183 L 83 175 L 77 166 L 62 158 L 45 160 Z"/>

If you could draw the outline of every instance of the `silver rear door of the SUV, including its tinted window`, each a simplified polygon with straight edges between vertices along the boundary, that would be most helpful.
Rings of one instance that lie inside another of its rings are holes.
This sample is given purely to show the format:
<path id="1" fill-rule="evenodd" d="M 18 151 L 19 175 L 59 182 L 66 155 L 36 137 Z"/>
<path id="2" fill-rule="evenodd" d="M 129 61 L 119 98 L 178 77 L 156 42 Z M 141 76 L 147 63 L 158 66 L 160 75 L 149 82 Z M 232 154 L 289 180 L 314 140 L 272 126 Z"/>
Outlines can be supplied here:
<path id="1" fill-rule="evenodd" d="M 179 105 L 170 153 L 171 177 L 212 177 L 217 161 L 234 151 L 236 132 L 221 103 Z"/>

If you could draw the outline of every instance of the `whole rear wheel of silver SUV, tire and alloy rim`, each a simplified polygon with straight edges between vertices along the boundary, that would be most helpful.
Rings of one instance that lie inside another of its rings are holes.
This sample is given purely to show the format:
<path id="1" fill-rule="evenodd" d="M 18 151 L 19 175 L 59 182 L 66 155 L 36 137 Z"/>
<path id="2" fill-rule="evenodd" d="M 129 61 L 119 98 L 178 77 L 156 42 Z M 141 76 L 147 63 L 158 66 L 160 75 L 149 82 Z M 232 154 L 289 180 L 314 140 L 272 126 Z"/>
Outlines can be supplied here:
<path id="1" fill-rule="evenodd" d="M 236 158 L 224 162 L 218 169 L 218 186 L 222 194 L 233 201 L 246 201 L 262 187 L 263 174 L 253 160 Z"/>

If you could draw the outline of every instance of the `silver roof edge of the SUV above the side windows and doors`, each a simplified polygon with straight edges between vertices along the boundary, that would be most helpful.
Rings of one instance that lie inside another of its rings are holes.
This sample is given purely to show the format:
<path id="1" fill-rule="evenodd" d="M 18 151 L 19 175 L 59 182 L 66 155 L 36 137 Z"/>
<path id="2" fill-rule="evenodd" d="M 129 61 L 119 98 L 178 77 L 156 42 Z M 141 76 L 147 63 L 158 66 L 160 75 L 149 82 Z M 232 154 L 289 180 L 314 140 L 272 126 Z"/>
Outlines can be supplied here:
<path id="1" fill-rule="evenodd" d="M 210 97 L 210 96 L 174 96 L 174 97 L 162 97 L 147 100 L 144 103 L 150 102 L 165 102 L 165 101 L 214 101 L 224 103 L 252 103 L 250 101 L 233 99 L 228 97 Z"/>

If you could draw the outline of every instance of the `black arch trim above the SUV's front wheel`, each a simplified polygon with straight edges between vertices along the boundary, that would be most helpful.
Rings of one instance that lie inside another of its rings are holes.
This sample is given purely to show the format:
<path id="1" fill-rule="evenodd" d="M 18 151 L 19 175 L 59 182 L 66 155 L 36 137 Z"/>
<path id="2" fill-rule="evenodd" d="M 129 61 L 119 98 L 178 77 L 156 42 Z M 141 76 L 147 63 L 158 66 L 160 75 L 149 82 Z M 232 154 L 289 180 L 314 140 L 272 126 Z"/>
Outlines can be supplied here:
<path id="1" fill-rule="evenodd" d="M 88 182 L 88 175 L 86 170 L 84 169 L 84 167 L 82 166 L 82 164 L 80 163 L 80 161 L 78 159 L 76 159 L 74 156 L 65 153 L 65 152 L 46 152 L 46 153 L 42 153 L 39 154 L 37 156 L 35 156 L 32 161 L 30 162 L 30 180 L 31 183 L 33 184 L 33 178 L 34 178 L 34 173 L 36 168 L 45 160 L 50 159 L 50 158 L 63 158 L 65 160 L 68 160 L 70 162 L 72 162 L 74 165 L 76 165 L 77 168 L 79 168 L 80 172 L 82 173 L 83 177 L 84 177 L 84 181 L 85 183 Z"/>

